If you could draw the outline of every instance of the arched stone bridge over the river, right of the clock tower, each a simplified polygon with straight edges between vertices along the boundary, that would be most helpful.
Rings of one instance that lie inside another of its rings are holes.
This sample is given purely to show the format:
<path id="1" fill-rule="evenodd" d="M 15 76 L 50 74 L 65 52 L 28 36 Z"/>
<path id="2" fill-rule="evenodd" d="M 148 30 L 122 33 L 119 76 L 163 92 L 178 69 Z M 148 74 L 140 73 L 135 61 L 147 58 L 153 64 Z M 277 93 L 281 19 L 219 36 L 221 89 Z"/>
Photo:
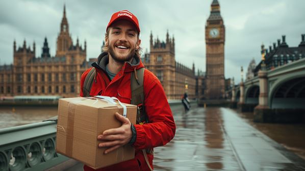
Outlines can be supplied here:
<path id="1" fill-rule="evenodd" d="M 305 58 L 262 69 L 258 76 L 241 81 L 229 92 L 232 107 L 254 111 L 258 122 L 304 121 Z"/>

